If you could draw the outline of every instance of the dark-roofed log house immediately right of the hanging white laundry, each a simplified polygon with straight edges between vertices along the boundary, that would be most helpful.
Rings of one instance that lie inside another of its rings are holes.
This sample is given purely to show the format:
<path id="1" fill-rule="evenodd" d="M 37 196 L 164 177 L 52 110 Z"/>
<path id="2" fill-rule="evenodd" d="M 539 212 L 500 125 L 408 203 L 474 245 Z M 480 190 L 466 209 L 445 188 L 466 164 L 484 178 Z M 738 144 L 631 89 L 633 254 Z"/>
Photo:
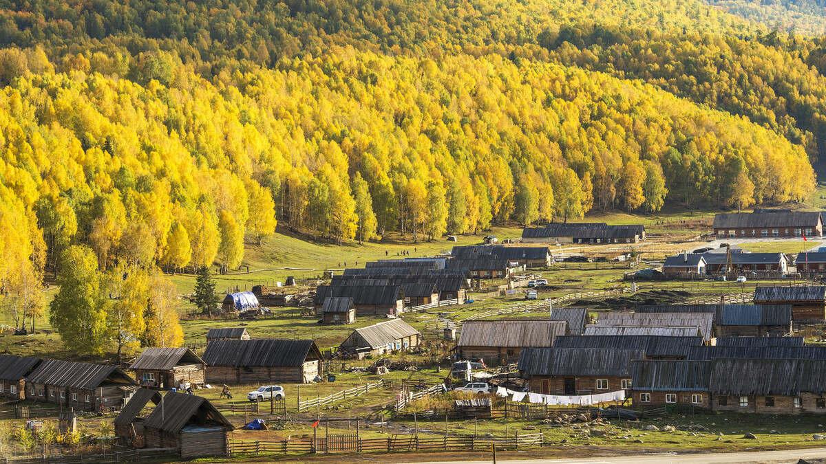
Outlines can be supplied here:
<path id="1" fill-rule="evenodd" d="M 633 361 L 631 399 L 650 408 L 680 404 L 709 408 L 709 361 Z"/>

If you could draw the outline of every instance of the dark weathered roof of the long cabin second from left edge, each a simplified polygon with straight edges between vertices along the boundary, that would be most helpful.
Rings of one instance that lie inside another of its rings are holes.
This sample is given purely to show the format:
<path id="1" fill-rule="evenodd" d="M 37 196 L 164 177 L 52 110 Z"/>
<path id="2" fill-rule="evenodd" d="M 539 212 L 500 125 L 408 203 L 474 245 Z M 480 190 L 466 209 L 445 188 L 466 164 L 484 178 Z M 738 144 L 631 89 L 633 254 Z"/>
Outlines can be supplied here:
<path id="1" fill-rule="evenodd" d="M 138 383 L 121 371 L 120 367 L 56 359 L 45 359 L 40 362 L 40 365 L 29 376 L 26 376 L 26 381 L 80 390 L 94 390 L 104 381 L 124 385 L 137 385 Z"/>

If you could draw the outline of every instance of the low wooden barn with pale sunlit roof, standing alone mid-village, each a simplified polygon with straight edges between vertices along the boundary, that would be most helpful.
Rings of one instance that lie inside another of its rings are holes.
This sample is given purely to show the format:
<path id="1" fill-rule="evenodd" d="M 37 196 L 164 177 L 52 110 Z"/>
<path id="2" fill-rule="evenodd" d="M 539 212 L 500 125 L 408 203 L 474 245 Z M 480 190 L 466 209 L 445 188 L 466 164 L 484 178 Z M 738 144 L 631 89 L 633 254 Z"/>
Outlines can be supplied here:
<path id="1" fill-rule="evenodd" d="M 339 345 L 339 353 L 351 353 L 359 357 L 368 354 L 378 356 L 413 349 L 418 347 L 419 343 L 421 334 L 418 330 L 401 319 L 394 319 L 355 329 Z"/>

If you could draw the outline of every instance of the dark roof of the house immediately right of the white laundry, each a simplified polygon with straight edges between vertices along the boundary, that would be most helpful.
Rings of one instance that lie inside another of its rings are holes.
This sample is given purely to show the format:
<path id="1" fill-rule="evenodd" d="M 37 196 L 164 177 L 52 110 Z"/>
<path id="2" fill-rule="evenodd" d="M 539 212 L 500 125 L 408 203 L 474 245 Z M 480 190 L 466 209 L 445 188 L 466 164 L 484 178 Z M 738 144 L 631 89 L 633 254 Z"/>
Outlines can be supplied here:
<path id="1" fill-rule="evenodd" d="M 708 391 L 709 361 L 634 361 L 631 378 L 634 390 Z"/>

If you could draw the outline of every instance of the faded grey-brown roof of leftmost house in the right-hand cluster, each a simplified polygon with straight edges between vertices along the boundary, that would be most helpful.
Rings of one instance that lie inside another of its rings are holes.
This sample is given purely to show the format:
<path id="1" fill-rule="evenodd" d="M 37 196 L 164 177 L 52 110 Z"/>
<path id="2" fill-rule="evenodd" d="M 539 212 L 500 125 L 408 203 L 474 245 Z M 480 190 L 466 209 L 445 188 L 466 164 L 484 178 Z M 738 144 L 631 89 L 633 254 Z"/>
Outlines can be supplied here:
<path id="1" fill-rule="evenodd" d="M 458 347 L 552 347 L 567 332 L 564 320 L 468 320 L 462 324 Z"/>

